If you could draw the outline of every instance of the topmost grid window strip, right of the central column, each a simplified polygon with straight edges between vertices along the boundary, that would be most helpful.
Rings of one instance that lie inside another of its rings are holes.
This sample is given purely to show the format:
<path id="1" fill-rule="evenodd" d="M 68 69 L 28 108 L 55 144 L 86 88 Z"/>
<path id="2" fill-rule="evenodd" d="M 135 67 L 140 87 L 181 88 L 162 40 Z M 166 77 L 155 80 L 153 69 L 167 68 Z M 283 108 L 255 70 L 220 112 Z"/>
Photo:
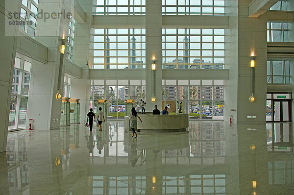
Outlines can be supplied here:
<path id="1" fill-rule="evenodd" d="M 162 0 L 163 15 L 224 15 L 224 0 Z"/>

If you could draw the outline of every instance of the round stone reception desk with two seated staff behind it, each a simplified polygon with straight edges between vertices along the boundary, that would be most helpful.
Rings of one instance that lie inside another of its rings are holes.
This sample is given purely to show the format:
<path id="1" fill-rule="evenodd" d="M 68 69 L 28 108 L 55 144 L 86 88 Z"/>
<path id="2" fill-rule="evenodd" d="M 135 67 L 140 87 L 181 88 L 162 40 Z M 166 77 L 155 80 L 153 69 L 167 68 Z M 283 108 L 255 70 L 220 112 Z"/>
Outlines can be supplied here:
<path id="1" fill-rule="evenodd" d="M 137 123 L 138 131 L 148 132 L 171 132 L 171 131 L 185 131 L 189 127 L 189 115 L 140 115 L 140 120 Z"/>

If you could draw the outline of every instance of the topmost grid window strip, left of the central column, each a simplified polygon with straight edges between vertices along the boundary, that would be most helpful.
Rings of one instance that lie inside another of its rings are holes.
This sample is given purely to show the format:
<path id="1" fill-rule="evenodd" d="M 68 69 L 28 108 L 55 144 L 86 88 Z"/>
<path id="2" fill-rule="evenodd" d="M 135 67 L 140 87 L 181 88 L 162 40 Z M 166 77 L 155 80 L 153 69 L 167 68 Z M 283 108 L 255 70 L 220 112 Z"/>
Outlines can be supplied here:
<path id="1" fill-rule="evenodd" d="M 97 0 L 96 15 L 145 15 L 146 0 Z"/>

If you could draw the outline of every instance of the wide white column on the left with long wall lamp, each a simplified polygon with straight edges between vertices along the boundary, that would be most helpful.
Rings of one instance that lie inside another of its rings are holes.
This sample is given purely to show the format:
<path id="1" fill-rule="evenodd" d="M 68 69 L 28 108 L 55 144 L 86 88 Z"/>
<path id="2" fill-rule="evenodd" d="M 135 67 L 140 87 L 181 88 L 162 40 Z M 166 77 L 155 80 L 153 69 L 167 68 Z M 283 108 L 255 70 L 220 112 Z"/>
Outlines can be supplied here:
<path id="1" fill-rule="evenodd" d="M 39 13 L 63 13 L 61 17 L 38 19 L 36 26 L 36 40 L 48 47 L 48 63 L 35 64 L 32 67 L 30 82 L 30 97 L 27 113 L 28 119 L 34 119 L 34 129 L 54 129 L 60 124 L 61 99 L 56 94 L 63 94 L 64 65 L 66 56 L 62 59 L 62 40 L 67 40 L 69 17 L 73 15 L 72 1 L 41 0 Z M 67 42 L 67 41 L 66 41 Z M 67 44 L 65 44 L 67 47 Z M 60 67 L 61 66 L 61 67 Z M 60 79 L 60 86 L 58 81 Z M 56 120 L 58 119 L 58 120 Z M 54 122 L 53 122 L 54 121 Z"/>

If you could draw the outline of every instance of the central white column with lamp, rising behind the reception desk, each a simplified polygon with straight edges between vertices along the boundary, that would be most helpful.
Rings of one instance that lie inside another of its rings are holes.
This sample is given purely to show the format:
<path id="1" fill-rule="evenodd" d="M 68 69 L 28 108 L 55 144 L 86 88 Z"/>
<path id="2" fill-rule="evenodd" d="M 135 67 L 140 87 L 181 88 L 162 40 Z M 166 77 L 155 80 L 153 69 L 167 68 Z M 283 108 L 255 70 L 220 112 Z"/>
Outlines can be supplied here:
<path id="1" fill-rule="evenodd" d="M 154 105 L 161 107 L 162 101 L 162 49 L 161 49 L 161 1 L 146 1 L 146 111 L 154 109 Z M 156 70 L 151 70 L 152 59 L 156 59 Z M 154 78 L 155 77 L 155 78 Z M 152 86 L 155 86 L 156 101 L 151 102 Z"/>

